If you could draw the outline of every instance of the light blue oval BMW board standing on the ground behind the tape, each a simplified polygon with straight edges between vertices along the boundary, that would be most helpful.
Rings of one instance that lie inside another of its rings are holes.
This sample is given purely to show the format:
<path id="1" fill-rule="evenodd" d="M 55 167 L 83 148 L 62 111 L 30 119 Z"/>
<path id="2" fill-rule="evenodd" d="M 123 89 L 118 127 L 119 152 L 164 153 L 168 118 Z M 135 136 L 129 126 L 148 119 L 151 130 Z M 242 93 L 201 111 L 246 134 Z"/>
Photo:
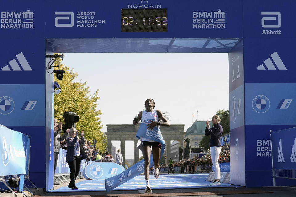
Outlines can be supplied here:
<path id="1" fill-rule="evenodd" d="M 83 175 L 86 179 L 101 180 L 119 175 L 123 171 L 125 171 L 125 168 L 117 163 L 95 162 L 88 164 L 84 168 Z"/>

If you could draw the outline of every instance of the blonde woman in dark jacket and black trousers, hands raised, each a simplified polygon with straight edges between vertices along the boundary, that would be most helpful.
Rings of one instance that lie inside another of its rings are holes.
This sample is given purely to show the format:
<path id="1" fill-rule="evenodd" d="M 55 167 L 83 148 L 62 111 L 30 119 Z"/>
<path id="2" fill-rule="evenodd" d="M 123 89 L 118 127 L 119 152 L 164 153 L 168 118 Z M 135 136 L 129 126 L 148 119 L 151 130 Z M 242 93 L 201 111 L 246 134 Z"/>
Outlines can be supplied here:
<path id="1" fill-rule="evenodd" d="M 68 138 L 66 139 L 66 162 L 68 163 L 70 168 L 70 183 L 68 187 L 72 188 L 72 190 L 78 189 L 78 187 L 76 187 L 75 185 L 75 179 L 80 171 L 80 145 L 84 145 L 84 131 L 81 131 L 81 139 L 79 139 L 77 135 L 78 131 L 76 130 L 76 128 L 72 127 L 69 131 Z"/>

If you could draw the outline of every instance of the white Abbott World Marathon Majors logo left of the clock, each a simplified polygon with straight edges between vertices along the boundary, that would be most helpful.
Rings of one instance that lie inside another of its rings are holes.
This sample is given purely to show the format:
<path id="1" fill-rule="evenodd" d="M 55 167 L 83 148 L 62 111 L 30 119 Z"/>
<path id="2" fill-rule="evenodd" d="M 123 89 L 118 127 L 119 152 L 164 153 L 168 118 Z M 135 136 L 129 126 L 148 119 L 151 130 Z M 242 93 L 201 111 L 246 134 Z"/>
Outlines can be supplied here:
<path id="1" fill-rule="evenodd" d="M 98 24 L 105 23 L 105 19 L 98 18 L 94 11 L 79 11 L 76 14 L 76 27 L 97 27 Z M 73 12 L 55 12 L 56 27 L 73 27 Z"/>

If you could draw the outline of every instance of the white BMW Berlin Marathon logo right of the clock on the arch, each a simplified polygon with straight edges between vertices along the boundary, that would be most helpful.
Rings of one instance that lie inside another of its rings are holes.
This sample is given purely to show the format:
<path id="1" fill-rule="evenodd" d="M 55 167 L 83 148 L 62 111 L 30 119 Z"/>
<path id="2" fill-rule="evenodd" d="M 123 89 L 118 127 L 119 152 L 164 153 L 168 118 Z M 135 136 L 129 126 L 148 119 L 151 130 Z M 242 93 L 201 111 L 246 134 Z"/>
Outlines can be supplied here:
<path id="1" fill-rule="evenodd" d="M 212 12 L 195 11 L 192 12 L 193 28 L 225 28 L 225 12 L 218 10 Z"/>

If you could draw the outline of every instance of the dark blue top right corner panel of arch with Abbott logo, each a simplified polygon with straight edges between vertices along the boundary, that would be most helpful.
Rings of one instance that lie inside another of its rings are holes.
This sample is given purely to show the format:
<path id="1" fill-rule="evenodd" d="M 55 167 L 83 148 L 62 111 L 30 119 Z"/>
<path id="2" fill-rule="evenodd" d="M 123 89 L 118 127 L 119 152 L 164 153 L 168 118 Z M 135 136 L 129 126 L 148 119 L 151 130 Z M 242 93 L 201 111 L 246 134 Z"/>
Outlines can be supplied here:
<path id="1" fill-rule="evenodd" d="M 295 38 L 294 13 L 295 1 L 249 0 L 244 3 L 245 38 Z M 254 6 L 256 5 L 256 6 Z M 250 11 L 252 10 L 252 11 Z"/>

